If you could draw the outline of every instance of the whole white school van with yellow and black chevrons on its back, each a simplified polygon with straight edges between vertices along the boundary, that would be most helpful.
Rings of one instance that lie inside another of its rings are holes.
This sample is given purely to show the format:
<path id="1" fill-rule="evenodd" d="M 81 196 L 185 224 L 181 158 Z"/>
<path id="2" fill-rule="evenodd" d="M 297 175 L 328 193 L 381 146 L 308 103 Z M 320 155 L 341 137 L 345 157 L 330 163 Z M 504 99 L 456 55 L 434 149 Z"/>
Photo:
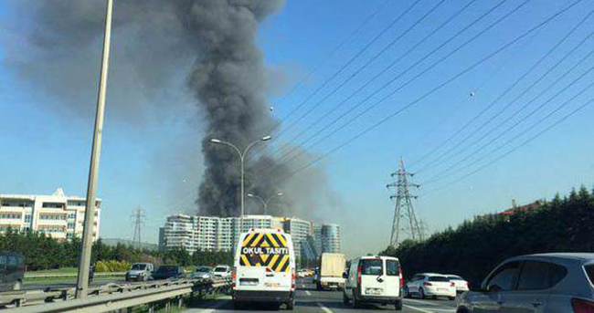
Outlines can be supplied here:
<path id="1" fill-rule="evenodd" d="M 295 305 L 295 254 L 291 235 L 279 229 L 250 229 L 239 236 L 232 275 L 233 305 L 246 302 Z"/>

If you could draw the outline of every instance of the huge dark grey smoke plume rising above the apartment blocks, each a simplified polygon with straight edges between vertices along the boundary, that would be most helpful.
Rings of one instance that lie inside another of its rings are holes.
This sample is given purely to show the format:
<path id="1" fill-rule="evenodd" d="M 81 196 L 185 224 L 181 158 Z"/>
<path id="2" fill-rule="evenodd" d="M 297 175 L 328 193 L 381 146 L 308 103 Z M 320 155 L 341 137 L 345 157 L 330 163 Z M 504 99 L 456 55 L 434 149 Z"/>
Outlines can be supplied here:
<path id="1" fill-rule="evenodd" d="M 196 145 L 202 146 L 205 166 L 196 200 L 201 214 L 239 214 L 237 152 L 209 140 L 243 150 L 278 123 L 266 99 L 274 82 L 256 40 L 260 23 L 282 5 L 283 0 L 114 2 L 108 114 L 138 122 L 185 118 L 188 107 L 197 108 L 196 132 L 203 136 Z M 59 99 L 56 109 L 92 115 L 105 3 L 18 0 L 8 6 L 17 18 L 2 25 L 3 64 Z M 312 168 L 281 179 L 308 158 L 303 153 L 293 163 L 280 163 L 266 144 L 255 145 L 246 157 L 246 193 L 267 198 L 282 191 L 269 214 L 315 218 L 314 209 L 323 206 L 331 212 L 328 206 L 339 204 L 324 172 Z M 270 168 L 276 170 L 270 174 Z M 251 200 L 246 198 L 247 213 L 262 213 Z"/>

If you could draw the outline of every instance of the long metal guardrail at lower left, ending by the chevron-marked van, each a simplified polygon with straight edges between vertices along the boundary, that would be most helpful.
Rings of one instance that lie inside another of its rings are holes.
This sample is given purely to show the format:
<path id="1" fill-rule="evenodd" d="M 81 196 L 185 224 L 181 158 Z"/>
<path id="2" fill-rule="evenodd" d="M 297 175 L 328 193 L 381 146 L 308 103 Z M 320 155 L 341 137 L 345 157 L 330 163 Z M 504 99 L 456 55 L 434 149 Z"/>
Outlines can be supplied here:
<path id="1" fill-rule="evenodd" d="M 6 312 L 106 312 L 148 305 L 149 311 L 159 301 L 177 301 L 182 297 L 202 296 L 228 290 L 230 279 L 156 280 L 136 284 L 107 284 L 90 289 L 86 299 L 74 299 L 74 288 L 11 291 L 0 293 L 0 303 L 13 305 Z"/>

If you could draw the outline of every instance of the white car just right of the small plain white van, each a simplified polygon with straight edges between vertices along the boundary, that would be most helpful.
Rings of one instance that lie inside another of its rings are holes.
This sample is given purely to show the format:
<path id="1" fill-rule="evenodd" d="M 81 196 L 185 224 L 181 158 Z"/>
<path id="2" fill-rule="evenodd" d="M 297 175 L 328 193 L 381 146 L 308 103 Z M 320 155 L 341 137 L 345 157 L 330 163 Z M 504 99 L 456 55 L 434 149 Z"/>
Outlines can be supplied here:
<path id="1" fill-rule="evenodd" d="M 456 298 L 456 285 L 450 281 L 448 276 L 435 273 L 420 273 L 412 276 L 404 288 L 407 297 L 418 296 L 421 299 L 426 297 L 448 297 Z"/>

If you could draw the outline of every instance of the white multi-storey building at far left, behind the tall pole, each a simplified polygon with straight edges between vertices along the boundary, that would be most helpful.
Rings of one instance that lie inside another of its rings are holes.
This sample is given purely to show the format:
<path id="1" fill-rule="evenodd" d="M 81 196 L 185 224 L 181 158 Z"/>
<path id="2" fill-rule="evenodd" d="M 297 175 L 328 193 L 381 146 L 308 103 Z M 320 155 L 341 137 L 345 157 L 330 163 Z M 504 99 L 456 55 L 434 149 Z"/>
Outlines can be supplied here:
<path id="1" fill-rule="evenodd" d="M 61 188 L 51 195 L 0 194 L 0 233 L 8 228 L 36 231 L 57 239 L 82 237 L 86 199 L 67 196 Z M 95 202 L 93 240 L 99 237 L 101 199 Z"/>

